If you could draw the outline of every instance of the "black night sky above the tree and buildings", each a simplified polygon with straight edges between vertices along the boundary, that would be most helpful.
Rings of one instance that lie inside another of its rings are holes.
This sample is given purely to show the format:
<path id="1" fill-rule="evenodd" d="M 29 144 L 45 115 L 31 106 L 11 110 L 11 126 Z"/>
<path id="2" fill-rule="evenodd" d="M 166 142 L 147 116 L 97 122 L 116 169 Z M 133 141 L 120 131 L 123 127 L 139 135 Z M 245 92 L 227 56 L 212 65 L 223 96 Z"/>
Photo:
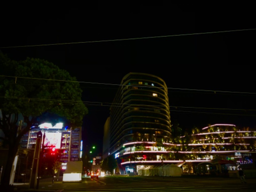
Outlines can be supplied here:
<path id="1" fill-rule="evenodd" d="M 186 107 L 170 108 L 171 121 L 178 121 L 184 130 L 215 123 L 255 127 L 255 111 L 249 110 L 256 109 L 255 94 L 234 93 L 256 93 L 252 4 L 94 2 L 58 7 L 5 4 L 0 13 L 0 50 L 13 60 L 48 60 L 81 82 L 120 84 L 129 72 L 157 75 L 167 87 L 176 88 L 169 89 L 170 106 Z M 115 39 L 130 40 L 105 41 Z M 88 41 L 103 42 L 83 43 Z M 28 45 L 42 46 L 10 48 Z M 116 85 L 90 83 L 81 87 L 84 101 L 106 105 L 117 89 Z M 87 107 L 84 143 L 101 150 L 109 107 Z"/>

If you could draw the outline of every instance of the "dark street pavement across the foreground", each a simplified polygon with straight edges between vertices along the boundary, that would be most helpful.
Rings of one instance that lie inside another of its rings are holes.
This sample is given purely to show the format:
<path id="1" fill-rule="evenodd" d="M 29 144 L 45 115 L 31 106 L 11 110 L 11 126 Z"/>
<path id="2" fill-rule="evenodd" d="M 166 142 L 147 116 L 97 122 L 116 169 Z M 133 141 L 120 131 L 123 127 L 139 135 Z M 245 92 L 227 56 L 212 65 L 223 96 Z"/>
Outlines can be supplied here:
<path id="1" fill-rule="evenodd" d="M 91 179 L 82 178 L 82 182 L 62 183 L 62 177 L 52 183 L 52 178 L 40 180 L 38 189 L 29 188 L 28 183 L 14 183 L 14 191 L 218 191 L 218 192 L 256 192 L 256 178 L 246 179 L 241 183 L 239 178 L 182 175 L 181 177 L 127 176 L 113 175 Z"/>

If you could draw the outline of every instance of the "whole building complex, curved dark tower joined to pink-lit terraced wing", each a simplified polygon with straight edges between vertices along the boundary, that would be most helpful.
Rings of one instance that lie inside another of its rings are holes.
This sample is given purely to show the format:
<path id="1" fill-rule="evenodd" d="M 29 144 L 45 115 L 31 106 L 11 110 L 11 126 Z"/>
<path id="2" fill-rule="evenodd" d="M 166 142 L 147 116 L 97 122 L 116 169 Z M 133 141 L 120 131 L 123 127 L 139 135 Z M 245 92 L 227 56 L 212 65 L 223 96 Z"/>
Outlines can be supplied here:
<path id="1" fill-rule="evenodd" d="M 256 169 L 255 149 L 256 131 L 233 124 L 172 138 L 166 84 L 144 73 L 123 77 L 104 125 L 103 159 L 113 155 L 121 174 L 163 164 L 175 164 L 183 173 L 210 173 L 209 164 L 216 165 L 215 172 Z"/>

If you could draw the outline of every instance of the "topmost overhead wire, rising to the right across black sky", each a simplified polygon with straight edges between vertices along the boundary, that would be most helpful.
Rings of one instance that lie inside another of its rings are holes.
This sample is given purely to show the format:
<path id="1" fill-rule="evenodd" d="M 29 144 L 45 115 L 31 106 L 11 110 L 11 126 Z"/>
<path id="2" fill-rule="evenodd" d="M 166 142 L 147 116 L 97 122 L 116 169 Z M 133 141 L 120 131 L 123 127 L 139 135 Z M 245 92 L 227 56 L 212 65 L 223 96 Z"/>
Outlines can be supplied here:
<path id="1" fill-rule="evenodd" d="M 73 42 L 73 43 L 56 43 L 56 44 L 10 46 L 10 47 L 0 47 L 0 49 L 19 48 L 19 47 L 38 47 L 38 46 L 49 46 L 49 45 L 100 43 L 100 42 L 111 42 L 111 41 L 127 41 L 127 40 L 140 40 L 140 39 L 153 39 L 153 38 L 163 38 L 163 37 L 175 37 L 175 36 L 191 36 L 191 35 L 204 35 L 204 34 L 213 34 L 213 33 L 227 33 L 227 32 L 249 31 L 249 30 L 256 30 L 256 29 L 255 28 L 252 28 L 252 29 L 237 29 L 237 30 L 228 30 L 228 31 L 213 31 L 213 32 L 204 32 L 204 33 L 188 33 L 188 34 L 165 35 L 165 36 L 151 36 L 151 37 L 136 37 L 136 38 L 126 38 L 126 39 L 109 39 L 109 40 Z"/>

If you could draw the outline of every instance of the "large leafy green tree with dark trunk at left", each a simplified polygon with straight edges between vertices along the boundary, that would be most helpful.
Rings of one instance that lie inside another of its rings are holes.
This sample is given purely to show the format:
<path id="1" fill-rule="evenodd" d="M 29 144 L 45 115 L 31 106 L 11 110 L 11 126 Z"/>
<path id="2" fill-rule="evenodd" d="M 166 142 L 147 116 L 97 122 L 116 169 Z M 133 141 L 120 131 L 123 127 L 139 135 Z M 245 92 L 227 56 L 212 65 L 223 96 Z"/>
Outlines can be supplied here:
<path id="1" fill-rule="evenodd" d="M 0 130 L 4 133 L 0 141 L 9 148 L 2 184 L 9 184 L 21 137 L 40 123 L 43 114 L 63 117 L 70 127 L 82 126 L 88 109 L 81 96 L 76 78 L 53 63 L 33 58 L 14 61 L 0 53 Z M 21 129 L 19 120 L 24 122 Z"/>

